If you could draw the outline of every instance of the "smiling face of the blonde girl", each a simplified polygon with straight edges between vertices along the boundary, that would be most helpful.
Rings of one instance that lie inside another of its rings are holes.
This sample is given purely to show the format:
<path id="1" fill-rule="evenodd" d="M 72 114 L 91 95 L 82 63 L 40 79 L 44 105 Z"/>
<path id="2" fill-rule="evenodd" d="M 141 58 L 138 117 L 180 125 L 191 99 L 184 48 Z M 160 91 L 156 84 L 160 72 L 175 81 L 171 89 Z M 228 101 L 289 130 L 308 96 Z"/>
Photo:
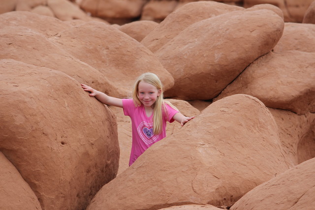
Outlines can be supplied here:
<path id="1" fill-rule="evenodd" d="M 139 82 L 138 98 L 145 107 L 152 107 L 160 94 L 161 90 L 157 87 L 143 81 Z"/>

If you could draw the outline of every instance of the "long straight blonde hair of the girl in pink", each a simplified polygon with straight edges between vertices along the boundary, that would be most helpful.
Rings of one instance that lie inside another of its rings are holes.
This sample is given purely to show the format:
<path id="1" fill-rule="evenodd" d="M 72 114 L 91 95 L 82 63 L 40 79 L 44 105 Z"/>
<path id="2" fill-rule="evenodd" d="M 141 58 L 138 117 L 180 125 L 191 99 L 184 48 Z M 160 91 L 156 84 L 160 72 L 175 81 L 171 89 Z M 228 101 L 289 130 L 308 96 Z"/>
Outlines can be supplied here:
<path id="1" fill-rule="evenodd" d="M 141 81 L 149 83 L 156 87 L 158 90 L 161 90 L 160 95 L 157 97 L 157 100 L 154 103 L 153 109 L 153 133 L 158 135 L 162 131 L 163 114 L 167 115 L 167 109 L 165 107 L 165 104 L 170 105 L 172 108 L 176 110 L 178 109 L 175 106 L 173 106 L 169 101 L 165 101 L 163 99 L 162 83 L 158 76 L 154 73 L 144 73 L 141 76 L 139 76 L 138 79 L 136 80 L 132 90 L 132 98 L 135 106 L 141 106 L 141 101 L 138 97 L 138 85 Z"/>

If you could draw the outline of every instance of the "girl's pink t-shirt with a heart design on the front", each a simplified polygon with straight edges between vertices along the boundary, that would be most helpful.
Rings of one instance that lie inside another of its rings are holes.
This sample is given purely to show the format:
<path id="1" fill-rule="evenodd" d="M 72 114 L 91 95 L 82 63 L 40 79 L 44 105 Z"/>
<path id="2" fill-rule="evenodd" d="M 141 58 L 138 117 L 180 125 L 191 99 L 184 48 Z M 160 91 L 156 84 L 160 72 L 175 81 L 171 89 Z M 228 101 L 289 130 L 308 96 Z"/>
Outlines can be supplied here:
<path id="1" fill-rule="evenodd" d="M 151 145 L 166 137 L 166 121 L 173 122 L 173 116 L 177 110 L 165 104 L 167 109 L 163 114 L 162 132 L 159 135 L 153 133 L 153 114 L 147 117 L 145 108 L 134 106 L 132 99 L 123 99 L 124 114 L 129 116 L 132 124 L 132 147 L 129 159 L 129 166 Z"/>

